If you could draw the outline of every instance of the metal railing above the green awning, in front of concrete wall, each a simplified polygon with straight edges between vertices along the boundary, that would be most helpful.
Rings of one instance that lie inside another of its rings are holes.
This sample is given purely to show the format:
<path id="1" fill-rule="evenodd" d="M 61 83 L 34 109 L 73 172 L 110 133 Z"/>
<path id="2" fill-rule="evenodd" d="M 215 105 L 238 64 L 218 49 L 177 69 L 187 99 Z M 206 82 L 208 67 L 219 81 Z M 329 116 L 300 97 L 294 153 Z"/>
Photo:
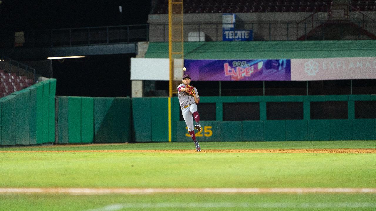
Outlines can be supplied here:
<path id="1" fill-rule="evenodd" d="M 335 24 L 335 22 L 331 22 Z M 372 39 L 368 37 L 362 36 L 364 32 L 358 30 L 356 36 L 352 36 L 351 38 L 345 38 L 344 32 L 346 32 L 347 27 L 345 22 L 337 21 L 337 28 L 338 28 L 338 37 L 344 39 Z M 374 21 L 352 21 L 352 23 L 356 24 L 356 26 L 365 25 L 365 30 L 370 33 L 376 34 L 376 22 Z M 223 32 L 222 32 L 222 23 L 215 23 L 215 24 L 206 24 L 206 23 L 198 23 L 198 24 L 185 24 L 184 25 L 184 41 L 192 40 L 196 41 L 223 41 Z M 298 38 L 303 38 L 302 40 L 309 39 L 311 35 L 311 31 L 315 29 L 315 27 L 320 27 L 320 35 L 316 36 L 316 40 L 326 40 L 328 39 L 332 33 L 334 33 L 330 29 L 326 29 L 327 23 L 325 20 L 314 20 L 307 21 L 307 22 L 286 22 L 286 23 L 243 23 L 244 30 L 252 30 L 253 31 L 253 41 L 294 41 Z M 195 33 L 197 37 L 189 36 L 189 32 L 197 32 Z M 200 38 L 198 35 L 204 33 L 205 38 Z M 337 33 L 337 32 L 335 32 Z M 341 34 L 342 33 L 342 34 Z M 168 42 L 168 25 L 167 24 L 155 24 L 150 25 L 150 42 Z"/>

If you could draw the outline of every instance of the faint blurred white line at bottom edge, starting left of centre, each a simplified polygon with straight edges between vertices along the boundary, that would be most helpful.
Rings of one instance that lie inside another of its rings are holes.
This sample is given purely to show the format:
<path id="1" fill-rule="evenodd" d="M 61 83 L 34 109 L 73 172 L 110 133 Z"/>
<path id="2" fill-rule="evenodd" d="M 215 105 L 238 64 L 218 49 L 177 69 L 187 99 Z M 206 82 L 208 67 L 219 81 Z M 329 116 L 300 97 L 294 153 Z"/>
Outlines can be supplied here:
<path id="1" fill-rule="evenodd" d="M 118 203 L 85 211 L 117 211 L 126 208 L 376 208 L 376 203 L 367 202 L 193 202 L 193 203 Z"/>

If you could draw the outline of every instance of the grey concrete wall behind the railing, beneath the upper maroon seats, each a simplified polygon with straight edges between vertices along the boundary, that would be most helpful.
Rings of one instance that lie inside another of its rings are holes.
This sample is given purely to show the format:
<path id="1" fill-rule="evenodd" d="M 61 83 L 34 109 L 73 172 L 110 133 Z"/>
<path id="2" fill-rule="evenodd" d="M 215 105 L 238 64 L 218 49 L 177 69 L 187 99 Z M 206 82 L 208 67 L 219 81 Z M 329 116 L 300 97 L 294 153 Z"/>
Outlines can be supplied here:
<path id="1" fill-rule="evenodd" d="M 304 23 L 297 24 L 311 14 L 310 12 L 256 12 L 237 13 L 236 15 L 239 29 L 253 29 L 253 40 L 267 41 L 296 40 L 328 19 L 326 12 L 318 12 L 313 16 L 313 19 L 308 18 Z M 376 19 L 375 12 L 365 12 L 365 14 Z M 357 25 L 361 23 L 360 26 L 363 27 L 363 14 L 350 12 L 350 20 Z M 364 28 L 376 34 L 375 22 L 370 23 L 372 20 L 367 17 L 365 17 L 364 21 L 368 21 Z M 151 14 L 149 15 L 148 23 L 150 24 L 150 42 L 168 41 L 167 14 Z M 184 14 L 185 41 L 188 41 L 189 32 L 204 32 L 206 41 L 222 41 L 222 14 Z"/>

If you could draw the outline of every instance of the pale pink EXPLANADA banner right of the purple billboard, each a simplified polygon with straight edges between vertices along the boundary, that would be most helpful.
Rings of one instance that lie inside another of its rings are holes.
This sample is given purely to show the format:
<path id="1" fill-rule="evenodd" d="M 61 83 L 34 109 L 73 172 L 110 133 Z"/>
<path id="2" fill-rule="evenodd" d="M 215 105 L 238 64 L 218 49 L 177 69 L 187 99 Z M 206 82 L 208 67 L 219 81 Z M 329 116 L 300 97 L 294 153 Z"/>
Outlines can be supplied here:
<path id="1" fill-rule="evenodd" d="M 291 59 L 291 80 L 375 79 L 376 57 Z"/>

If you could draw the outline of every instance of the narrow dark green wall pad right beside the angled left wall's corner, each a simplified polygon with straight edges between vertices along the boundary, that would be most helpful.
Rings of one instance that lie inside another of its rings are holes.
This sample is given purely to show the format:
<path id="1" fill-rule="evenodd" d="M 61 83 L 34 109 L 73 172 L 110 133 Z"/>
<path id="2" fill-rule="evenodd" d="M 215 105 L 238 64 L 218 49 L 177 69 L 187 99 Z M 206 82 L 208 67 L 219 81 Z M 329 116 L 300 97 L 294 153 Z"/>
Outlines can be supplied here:
<path id="1" fill-rule="evenodd" d="M 68 97 L 59 96 L 58 105 L 58 143 L 69 143 Z"/>

